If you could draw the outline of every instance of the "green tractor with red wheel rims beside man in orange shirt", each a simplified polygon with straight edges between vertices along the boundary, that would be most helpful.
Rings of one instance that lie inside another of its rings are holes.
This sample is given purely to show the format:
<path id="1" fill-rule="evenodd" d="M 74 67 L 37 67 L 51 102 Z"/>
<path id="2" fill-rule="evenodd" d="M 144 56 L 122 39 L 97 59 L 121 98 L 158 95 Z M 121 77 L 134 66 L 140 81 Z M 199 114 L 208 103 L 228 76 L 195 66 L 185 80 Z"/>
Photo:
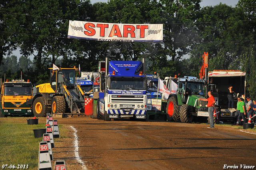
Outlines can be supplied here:
<path id="1" fill-rule="evenodd" d="M 176 94 L 170 94 L 166 106 L 166 115 L 169 121 L 183 123 L 206 122 L 208 118 L 207 101 L 198 100 L 207 98 L 208 84 L 203 79 L 184 76 L 178 78 Z M 218 113 L 217 113 L 218 112 Z M 217 114 L 216 114 L 217 113 Z M 215 106 L 214 122 L 220 121 L 220 107 Z"/>

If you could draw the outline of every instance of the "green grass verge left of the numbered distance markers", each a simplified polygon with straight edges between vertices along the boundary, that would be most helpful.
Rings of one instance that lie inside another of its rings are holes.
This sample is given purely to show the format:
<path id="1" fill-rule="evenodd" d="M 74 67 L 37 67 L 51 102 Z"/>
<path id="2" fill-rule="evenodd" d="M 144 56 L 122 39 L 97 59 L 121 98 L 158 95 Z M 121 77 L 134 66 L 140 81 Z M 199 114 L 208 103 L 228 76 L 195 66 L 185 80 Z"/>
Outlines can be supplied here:
<path id="1" fill-rule="evenodd" d="M 27 118 L 0 118 L 0 168 L 10 164 L 28 165 L 28 170 L 38 169 L 39 143 L 42 138 L 35 138 L 33 129 L 45 128 L 46 118 L 39 118 L 37 125 L 28 125 Z M 59 131 L 65 131 L 58 125 Z M 65 134 L 63 132 L 63 134 Z M 54 143 L 65 136 L 54 138 Z"/>

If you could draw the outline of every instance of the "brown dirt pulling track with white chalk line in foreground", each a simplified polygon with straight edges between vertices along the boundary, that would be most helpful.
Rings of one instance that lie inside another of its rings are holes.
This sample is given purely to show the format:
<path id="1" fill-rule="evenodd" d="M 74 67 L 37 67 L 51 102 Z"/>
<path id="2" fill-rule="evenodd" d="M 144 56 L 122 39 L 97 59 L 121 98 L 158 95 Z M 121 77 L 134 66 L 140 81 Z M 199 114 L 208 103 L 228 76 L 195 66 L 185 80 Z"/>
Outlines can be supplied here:
<path id="1" fill-rule="evenodd" d="M 250 130 L 89 117 L 56 119 L 69 130 L 68 138 L 55 144 L 54 160 L 65 160 L 68 170 L 256 169 L 256 132 Z"/>

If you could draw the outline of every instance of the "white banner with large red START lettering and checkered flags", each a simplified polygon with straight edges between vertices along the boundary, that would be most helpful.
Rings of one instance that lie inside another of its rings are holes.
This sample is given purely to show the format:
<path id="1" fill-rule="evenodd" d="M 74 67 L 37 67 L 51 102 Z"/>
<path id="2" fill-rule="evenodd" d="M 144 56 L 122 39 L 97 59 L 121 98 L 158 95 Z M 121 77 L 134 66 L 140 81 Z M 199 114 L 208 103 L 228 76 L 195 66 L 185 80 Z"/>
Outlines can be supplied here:
<path id="1" fill-rule="evenodd" d="M 118 42 L 162 42 L 163 24 L 114 24 L 69 20 L 68 38 Z"/>

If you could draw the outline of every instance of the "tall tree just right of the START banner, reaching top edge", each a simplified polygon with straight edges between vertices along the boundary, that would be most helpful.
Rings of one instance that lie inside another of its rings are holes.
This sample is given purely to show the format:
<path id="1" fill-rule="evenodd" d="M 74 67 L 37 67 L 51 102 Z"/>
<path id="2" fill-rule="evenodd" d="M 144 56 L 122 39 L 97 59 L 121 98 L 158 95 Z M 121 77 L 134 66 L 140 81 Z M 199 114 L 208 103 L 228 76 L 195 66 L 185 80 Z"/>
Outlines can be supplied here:
<path id="1" fill-rule="evenodd" d="M 200 0 L 160 0 L 164 24 L 164 50 L 174 62 L 188 53 L 195 36 L 194 22 L 200 12 Z"/>

